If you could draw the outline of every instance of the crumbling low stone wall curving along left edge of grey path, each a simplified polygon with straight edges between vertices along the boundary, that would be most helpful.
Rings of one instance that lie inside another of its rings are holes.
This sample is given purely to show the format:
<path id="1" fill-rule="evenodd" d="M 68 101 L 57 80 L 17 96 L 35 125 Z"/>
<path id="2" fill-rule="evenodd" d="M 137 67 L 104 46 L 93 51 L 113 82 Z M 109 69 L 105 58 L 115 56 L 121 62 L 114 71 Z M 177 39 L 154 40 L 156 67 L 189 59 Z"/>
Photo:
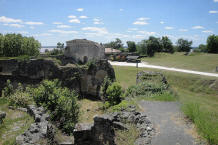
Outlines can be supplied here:
<path id="1" fill-rule="evenodd" d="M 146 115 L 130 107 L 122 112 L 94 117 L 94 124 L 77 124 L 73 132 L 75 145 L 116 145 L 115 129 L 126 130 L 125 122 L 133 123 L 140 131 L 135 145 L 151 144 L 153 126 Z"/>

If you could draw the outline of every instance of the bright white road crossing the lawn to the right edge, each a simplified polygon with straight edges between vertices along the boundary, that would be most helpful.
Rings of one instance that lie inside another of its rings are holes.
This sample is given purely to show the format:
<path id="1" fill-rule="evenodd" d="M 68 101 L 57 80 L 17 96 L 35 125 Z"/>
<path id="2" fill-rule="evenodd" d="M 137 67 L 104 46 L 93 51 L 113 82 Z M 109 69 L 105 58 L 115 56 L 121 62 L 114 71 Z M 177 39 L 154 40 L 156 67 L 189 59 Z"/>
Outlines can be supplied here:
<path id="1" fill-rule="evenodd" d="M 118 66 L 134 66 L 136 67 L 136 63 L 127 63 L 127 62 L 111 62 L 111 65 L 118 65 Z M 183 73 L 190 73 L 190 74 L 197 74 L 197 75 L 204 75 L 204 76 L 211 76 L 211 77 L 218 77 L 218 74 L 215 73 L 207 73 L 207 72 L 199 72 L 199 71 L 192 71 L 192 70 L 185 70 L 185 69 L 178 69 L 178 68 L 171 68 L 171 67 L 164 67 L 164 66 L 157 66 L 157 65 L 150 65 L 146 63 L 139 63 L 138 67 L 145 67 L 145 68 L 154 68 L 154 69 L 162 69 L 162 70 L 169 70 L 169 71 L 177 71 Z"/>

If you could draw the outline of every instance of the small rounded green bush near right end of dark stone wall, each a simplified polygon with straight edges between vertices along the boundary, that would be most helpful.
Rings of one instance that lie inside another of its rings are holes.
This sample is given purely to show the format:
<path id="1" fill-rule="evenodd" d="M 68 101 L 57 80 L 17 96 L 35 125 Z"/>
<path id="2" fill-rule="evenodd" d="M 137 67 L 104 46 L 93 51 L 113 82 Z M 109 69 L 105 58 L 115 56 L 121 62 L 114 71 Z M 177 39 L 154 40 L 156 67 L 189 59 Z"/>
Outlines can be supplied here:
<path id="1" fill-rule="evenodd" d="M 110 106 L 119 104 L 123 98 L 121 85 L 117 82 L 112 83 L 106 90 L 106 96 Z"/>

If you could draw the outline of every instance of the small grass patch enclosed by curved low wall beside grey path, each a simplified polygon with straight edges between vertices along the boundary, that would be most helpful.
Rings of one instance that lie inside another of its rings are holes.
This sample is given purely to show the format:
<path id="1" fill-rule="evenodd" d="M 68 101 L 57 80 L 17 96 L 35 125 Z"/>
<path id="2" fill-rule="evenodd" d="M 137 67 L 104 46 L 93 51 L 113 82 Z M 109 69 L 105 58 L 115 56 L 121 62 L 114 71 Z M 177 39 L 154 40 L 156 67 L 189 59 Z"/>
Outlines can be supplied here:
<path id="1" fill-rule="evenodd" d="M 128 124 L 128 130 L 116 130 L 115 135 L 117 145 L 133 145 L 139 136 L 139 131 L 134 124 Z"/>

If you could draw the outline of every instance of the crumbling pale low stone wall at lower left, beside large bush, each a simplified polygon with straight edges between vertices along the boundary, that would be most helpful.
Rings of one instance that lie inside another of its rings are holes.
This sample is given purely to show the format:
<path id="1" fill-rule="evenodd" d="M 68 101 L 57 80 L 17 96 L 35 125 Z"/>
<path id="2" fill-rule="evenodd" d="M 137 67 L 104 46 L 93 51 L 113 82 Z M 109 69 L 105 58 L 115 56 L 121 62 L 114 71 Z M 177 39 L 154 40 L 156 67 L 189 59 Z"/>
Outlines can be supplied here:
<path id="1" fill-rule="evenodd" d="M 35 123 L 31 124 L 25 133 L 16 137 L 16 144 L 36 145 L 40 144 L 42 139 L 45 139 L 48 144 L 54 144 L 54 129 L 52 124 L 48 122 L 49 115 L 43 107 L 29 105 L 27 112 L 34 117 Z"/>

